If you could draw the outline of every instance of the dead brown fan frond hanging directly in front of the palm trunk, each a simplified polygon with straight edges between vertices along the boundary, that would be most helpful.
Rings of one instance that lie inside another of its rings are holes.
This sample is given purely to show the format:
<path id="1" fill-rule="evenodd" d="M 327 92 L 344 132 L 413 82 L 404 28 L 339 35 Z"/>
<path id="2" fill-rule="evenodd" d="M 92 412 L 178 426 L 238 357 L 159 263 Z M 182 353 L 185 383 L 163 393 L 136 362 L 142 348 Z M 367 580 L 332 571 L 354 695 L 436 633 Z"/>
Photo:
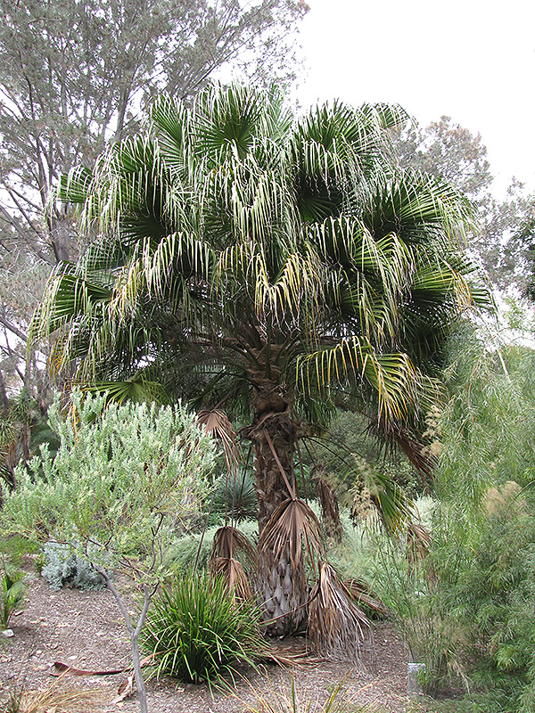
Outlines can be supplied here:
<path id="1" fill-rule="evenodd" d="M 303 552 L 314 562 L 325 556 L 321 526 L 314 511 L 299 498 L 284 500 L 268 520 L 259 537 L 259 553 L 272 553 L 278 561 L 287 553 L 292 569 L 299 570 Z"/>

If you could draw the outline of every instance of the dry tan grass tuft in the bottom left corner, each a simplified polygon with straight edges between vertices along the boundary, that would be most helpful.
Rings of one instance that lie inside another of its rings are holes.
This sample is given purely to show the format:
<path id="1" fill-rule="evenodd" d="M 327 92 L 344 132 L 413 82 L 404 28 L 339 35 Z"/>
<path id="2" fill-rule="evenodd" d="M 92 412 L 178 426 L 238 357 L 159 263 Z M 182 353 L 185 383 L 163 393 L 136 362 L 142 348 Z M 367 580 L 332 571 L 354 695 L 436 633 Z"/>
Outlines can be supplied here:
<path id="1" fill-rule="evenodd" d="M 102 710 L 103 692 L 65 688 L 54 681 L 44 691 L 29 691 L 23 688 L 11 694 L 8 713 L 90 713 Z"/>

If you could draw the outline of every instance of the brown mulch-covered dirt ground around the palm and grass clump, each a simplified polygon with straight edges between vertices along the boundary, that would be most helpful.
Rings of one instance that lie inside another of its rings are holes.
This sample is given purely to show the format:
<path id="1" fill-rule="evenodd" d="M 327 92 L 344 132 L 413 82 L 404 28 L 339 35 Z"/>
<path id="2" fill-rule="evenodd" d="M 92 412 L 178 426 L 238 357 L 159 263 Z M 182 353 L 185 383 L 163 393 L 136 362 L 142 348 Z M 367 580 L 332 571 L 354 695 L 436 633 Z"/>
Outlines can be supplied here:
<path id="1" fill-rule="evenodd" d="M 110 592 L 81 592 L 64 588 L 53 592 L 37 573 L 29 575 L 29 591 L 23 611 L 11 620 L 14 635 L 0 643 L 0 710 L 13 690 L 44 689 L 53 680 L 54 661 L 90 670 L 128 666 L 128 634 Z M 275 645 L 295 654 L 303 649 L 302 639 Z M 354 664 L 317 660 L 292 668 L 276 665 L 265 673 L 246 672 L 235 687 L 235 695 L 210 693 L 206 685 L 181 684 L 170 678 L 147 684 L 151 713 L 240 713 L 254 701 L 251 688 L 281 697 L 295 687 L 305 701 L 325 701 L 333 686 L 343 681 L 339 696 L 366 705 L 366 710 L 406 713 L 427 709 L 407 698 L 407 648 L 390 623 L 374 625 L 373 638 L 366 643 L 362 662 Z M 99 691 L 101 713 L 134 713 L 139 710 L 136 693 L 113 702 L 125 674 L 115 676 L 65 676 L 62 685 L 90 687 Z M 237 697 L 236 697 L 237 696 Z M 303 706 L 303 710 L 304 710 Z M 315 709 L 314 706 L 310 711 Z M 79 709 L 78 713 L 84 713 Z"/>

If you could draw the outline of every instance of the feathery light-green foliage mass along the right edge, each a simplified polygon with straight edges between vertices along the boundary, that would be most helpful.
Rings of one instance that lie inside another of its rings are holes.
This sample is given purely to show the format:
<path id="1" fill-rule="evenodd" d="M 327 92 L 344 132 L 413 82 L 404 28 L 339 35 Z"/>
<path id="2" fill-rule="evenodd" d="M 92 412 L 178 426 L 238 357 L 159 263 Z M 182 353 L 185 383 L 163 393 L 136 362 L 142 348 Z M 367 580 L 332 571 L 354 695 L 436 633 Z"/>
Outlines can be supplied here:
<path id="1" fill-rule="evenodd" d="M 426 664 L 428 691 L 464 692 L 456 711 L 528 713 L 535 701 L 535 354 L 498 346 L 488 328 L 467 325 L 452 344 L 451 399 L 429 421 L 441 448 L 429 549 L 415 567 L 391 545 L 383 569 L 388 603 Z"/>

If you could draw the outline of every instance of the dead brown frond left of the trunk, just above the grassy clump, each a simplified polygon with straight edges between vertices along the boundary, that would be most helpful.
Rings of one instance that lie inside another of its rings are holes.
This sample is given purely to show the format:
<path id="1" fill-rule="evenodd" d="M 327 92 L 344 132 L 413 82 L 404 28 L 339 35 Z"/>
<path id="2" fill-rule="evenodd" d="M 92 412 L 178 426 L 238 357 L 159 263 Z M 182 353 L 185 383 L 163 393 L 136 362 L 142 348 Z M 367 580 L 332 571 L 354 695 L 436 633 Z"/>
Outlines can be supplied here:
<path id="1" fill-rule="evenodd" d="M 210 572 L 226 581 L 229 592 L 237 599 L 249 600 L 252 597 L 250 586 L 251 574 L 244 570 L 243 564 L 235 558 L 236 551 L 243 553 L 251 571 L 256 564 L 256 552 L 247 537 L 240 530 L 226 526 L 219 528 L 214 537 L 210 553 Z"/>

